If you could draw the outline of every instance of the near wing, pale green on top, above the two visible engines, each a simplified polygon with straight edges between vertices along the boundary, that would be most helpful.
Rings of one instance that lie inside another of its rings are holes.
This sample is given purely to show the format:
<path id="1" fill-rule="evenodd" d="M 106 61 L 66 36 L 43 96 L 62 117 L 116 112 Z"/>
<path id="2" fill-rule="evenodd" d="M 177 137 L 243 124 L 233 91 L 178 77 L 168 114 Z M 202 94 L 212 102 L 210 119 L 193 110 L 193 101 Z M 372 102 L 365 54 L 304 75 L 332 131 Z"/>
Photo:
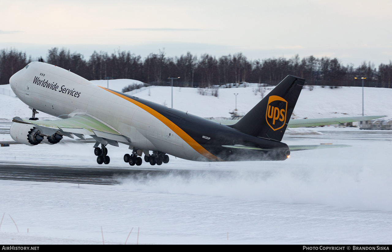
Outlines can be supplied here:
<path id="1" fill-rule="evenodd" d="M 129 143 L 131 140 L 124 137 L 113 127 L 85 114 L 59 120 L 26 120 L 14 117 L 13 122 L 34 124 L 43 135 L 53 135 L 57 131 L 62 135 L 73 138 L 72 134 L 85 140 L 84 135 L 90 135 L 101 144 L 118 146 L 118 142 Z M 72 133 L 72 134 L 71 134 Z"/>

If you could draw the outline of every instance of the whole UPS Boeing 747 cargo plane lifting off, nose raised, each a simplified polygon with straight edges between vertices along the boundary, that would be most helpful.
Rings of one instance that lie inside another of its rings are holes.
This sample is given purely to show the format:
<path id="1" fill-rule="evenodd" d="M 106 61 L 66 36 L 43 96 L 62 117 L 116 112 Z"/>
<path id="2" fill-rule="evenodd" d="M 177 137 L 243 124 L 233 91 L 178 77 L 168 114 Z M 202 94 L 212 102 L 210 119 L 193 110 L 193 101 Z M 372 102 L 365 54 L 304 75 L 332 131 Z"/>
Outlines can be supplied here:
<path id="1" fill-rule="evenodd" d="M 285 160 L 290 151 L 344 147 L 287 146 L 281 142 L 305 80 L 287 76 L 240 121 L 223 125 L 151 101 L 96 86 L 63 68 L 31 62 L 14 74 L 13 92 L 33 109 L 29 120 L 15 117 L 11 137 L 35 146 L 56 144 L 64 137 L 96 140 L 98 164 L 109 164 L 108 144 L 129 146 L 124 161 L 131 166 L 145 162 L 161 165 L 169 155 L 195 161 Z M 36 111 L 59 117 L 46 121 Z M 294 120 L 295 126 L 316 126 L 378 117 Z M 101 145 L 101 147 L 99 147 Z"/>

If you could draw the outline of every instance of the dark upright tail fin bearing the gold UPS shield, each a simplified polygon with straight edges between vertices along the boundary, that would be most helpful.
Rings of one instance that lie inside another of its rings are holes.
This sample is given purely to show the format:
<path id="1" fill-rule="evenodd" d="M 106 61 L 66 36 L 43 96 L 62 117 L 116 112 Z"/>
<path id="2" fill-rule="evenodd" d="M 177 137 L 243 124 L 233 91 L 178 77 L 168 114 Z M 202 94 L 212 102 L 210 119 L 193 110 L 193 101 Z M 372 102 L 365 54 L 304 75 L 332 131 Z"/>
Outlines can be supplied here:
<path id="1" fill-rule="evenodd" d="M 289 75 L 232 128 L 243 133 L 281 141 L 305 79 Z"/>

